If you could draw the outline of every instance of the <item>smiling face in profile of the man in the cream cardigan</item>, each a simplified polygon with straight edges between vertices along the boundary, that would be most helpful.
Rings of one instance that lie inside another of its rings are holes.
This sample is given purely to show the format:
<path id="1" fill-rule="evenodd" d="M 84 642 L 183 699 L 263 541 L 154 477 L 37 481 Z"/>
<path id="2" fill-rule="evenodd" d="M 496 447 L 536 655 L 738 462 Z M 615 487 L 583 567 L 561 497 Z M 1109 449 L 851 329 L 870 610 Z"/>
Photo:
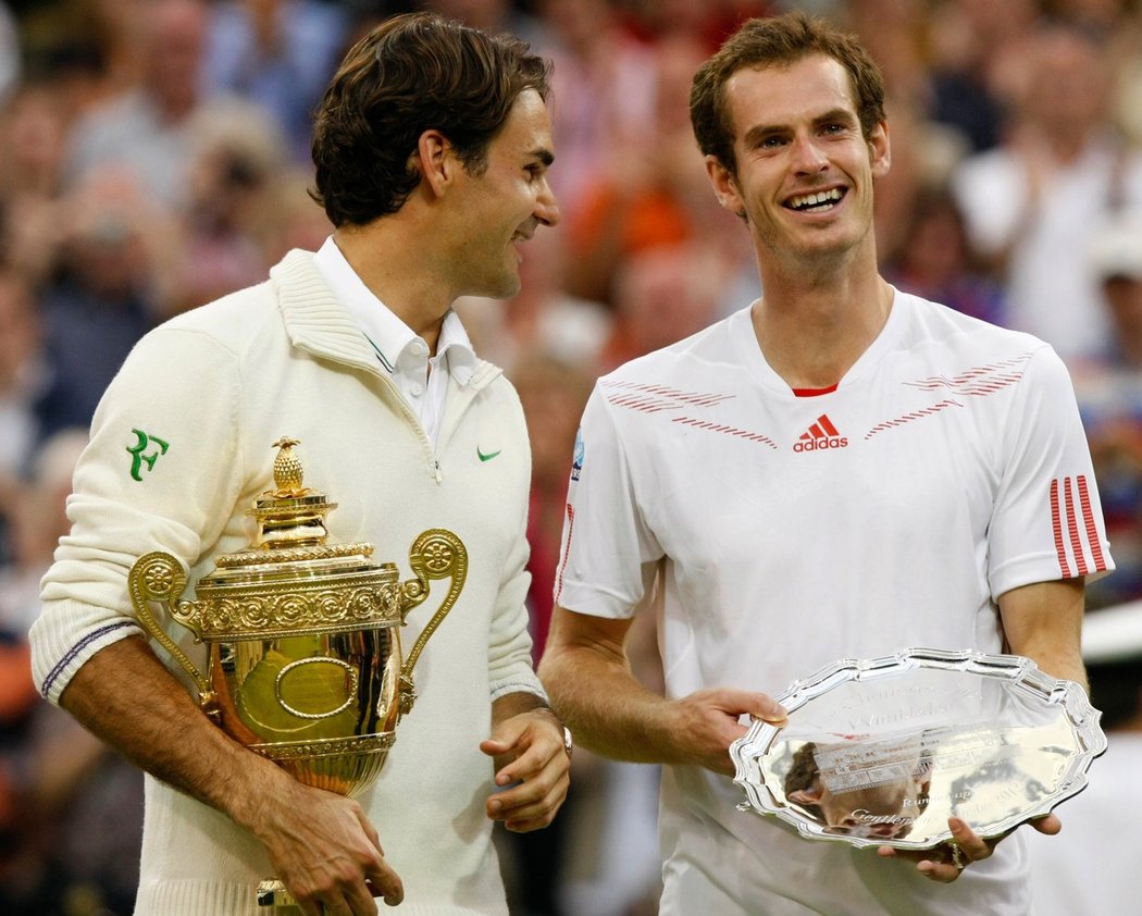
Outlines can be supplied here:
<path id="1" fill-rule="evenodd" d="M 465 171 L 456 187 L 451 263 L 457 296 L 507 298 L 520 291 L 522 243 L 539 225 L 560 219 L 547 183 L 553 159 L 547 106 L 528 89 L 489 145 L 486 168 Z"/>

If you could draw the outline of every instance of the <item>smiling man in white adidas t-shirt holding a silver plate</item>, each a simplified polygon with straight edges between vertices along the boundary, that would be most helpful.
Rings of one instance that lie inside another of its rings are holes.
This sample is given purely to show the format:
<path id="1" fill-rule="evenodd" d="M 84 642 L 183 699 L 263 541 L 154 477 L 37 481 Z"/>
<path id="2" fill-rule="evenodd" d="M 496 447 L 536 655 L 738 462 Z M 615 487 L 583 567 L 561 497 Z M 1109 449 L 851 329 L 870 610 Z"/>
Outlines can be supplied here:
<path id="1" fill-rule="evenodd" d="M 877 857 L 738 811 L 730 778 L 739 717 L 782 722 L 771 694 L 838 658 L 1011 651 L 1084 682 L 1084 578 L 1112 569 L 1054 352 L 878 273 L 883 101 L 867 53 L 799 14 L 699 70 L 763 298 L 600 379 L 584 415 L 540 676 L 581 744 L 667 764 L 664 916 L 1028 911 L 1018 834 L 954 820 L 958 849 Z M 624 646 L 656 576 L 665 697 Z"/>

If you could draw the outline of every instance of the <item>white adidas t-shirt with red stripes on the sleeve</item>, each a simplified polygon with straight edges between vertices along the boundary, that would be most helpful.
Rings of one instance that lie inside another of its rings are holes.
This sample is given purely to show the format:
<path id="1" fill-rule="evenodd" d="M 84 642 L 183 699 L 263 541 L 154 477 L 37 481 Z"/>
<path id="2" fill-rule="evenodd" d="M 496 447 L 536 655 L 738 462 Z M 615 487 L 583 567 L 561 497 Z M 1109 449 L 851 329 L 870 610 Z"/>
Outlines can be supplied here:
<path id="1" fill-rule="evenodd" d="M 997 652 L 1004 592 L 1113 568 L 1055 353 L 900 292 L 829 394 L 789 389 L 748 310 L 600 379 L 566 512 L 563 606 L 628 617 L 665 561 L 671 697 L 777 694 L 910 646 Z M 727 778 L 667 770 L 664 916 L 1027 911 L 1018 834 L 936 885 L 737 811 Z"/>

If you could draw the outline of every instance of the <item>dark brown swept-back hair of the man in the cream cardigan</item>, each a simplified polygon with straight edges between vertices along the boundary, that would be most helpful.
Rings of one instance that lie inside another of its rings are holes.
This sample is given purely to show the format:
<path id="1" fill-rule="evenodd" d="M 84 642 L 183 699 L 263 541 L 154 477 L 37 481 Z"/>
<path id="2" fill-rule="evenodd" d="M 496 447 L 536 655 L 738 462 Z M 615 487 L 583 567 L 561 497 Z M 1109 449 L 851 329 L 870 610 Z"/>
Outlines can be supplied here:
<path id="1" fill-rule="evenodd" d="M 354 45 L 314 119 L 314 199 L 335 226 L 394 214 L 420 183 L 409 160 L 440 130 L 480 174 L 516 98 L 548 91 L 549 66 L 512 35 L 436 14 L 386 19 Z"/>

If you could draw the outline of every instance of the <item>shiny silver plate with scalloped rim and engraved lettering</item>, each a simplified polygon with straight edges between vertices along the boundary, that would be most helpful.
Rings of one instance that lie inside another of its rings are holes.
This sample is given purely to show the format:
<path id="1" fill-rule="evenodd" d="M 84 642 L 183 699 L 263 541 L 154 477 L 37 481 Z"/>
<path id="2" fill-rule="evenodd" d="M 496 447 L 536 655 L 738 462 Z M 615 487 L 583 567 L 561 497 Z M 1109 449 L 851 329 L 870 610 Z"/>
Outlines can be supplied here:
<path id="1" fill-rule="evenodd" d="M 1085 691 L 1021 656 L 843 659 L 775 699 L 789 723 L 730 747 L 739 809 L 856 846 L 931 849 L 954 815 L 998 836 L 1080 792 L 1107 749 Z"/>

